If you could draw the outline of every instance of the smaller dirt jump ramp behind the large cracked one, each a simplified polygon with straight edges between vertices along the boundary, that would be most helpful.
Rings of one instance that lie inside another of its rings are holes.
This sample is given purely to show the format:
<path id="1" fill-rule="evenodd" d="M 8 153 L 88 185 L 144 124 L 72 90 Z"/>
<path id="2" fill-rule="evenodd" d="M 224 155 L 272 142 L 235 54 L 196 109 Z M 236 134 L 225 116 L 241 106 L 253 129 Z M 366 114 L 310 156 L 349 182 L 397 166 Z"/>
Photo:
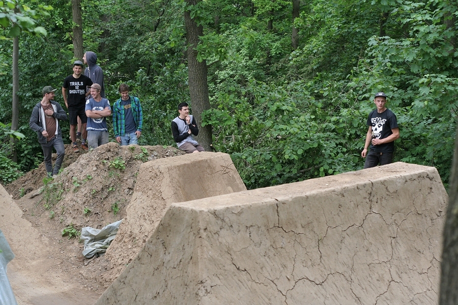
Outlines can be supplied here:
<path id="1" fill-rule="evenodd" d="M 199 153 L 142 164 L 119 232 L 106 252 L 116 278 L 145 245 L 166 209 L 175 202 L 246 191 L 231 157 Z"/>

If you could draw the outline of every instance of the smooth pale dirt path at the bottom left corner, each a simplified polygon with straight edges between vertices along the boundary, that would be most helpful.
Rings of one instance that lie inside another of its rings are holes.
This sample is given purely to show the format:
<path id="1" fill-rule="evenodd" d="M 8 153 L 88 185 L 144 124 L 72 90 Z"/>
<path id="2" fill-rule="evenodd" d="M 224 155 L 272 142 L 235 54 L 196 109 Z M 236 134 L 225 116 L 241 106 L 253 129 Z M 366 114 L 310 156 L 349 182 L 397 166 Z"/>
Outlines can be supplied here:
<path id="1" fill-rule="evenodd" d="M 59 242 L 23 219 L 4 188 L 0 188 L 0 228 L 15 254 L 7 270 L 19 305 L 92 304 L 103 292 L 84 283 L 78 266 L 58 258 Z"/>

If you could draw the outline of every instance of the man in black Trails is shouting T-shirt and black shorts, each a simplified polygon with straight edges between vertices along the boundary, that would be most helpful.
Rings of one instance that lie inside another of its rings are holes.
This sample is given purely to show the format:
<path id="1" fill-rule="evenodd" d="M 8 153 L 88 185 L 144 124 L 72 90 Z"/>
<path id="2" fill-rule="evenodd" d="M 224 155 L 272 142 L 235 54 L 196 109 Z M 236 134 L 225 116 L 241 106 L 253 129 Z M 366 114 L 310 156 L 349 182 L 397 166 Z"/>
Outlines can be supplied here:
<path id="1" fill-rule="evenodd" d="M 76 127 L 78 125 L 77 117 L 81 119 L 82 124 L 81 148 L 84 150 L 89 149 L 86 144 L 86 123 L 88 121 L 88 117 L 84 112 L 84 105 L 86 103 L 85 97 L 89 95 L 89 92 L 86 93 L 86 89 L 92 85 L 92 80 L 81 74 L 82 69 L 82 62 L 76 60 L 76 62 L 73 63 L 73 74 L 64 79 L 64 85 L 62 86 L 62 96 L 64 97 L 65 106 L 68 108 L 68 114 L 70 117 L 70 138 L 73 143 L 74 153 L 78 153 L 79 151 L 76 144 Z"/>

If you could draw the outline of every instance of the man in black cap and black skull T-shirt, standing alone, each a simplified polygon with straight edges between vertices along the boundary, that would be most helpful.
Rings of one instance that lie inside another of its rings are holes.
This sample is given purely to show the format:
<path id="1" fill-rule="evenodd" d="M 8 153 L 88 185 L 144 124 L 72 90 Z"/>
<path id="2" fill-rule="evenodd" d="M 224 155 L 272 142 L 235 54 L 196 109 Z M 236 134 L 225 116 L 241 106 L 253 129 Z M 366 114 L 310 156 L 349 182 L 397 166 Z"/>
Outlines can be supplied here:
<path id="1" fill-rule="evenodd" d="M 385 107 L 386 94 L 378 92 L 374 98 L 376 109 L 367 117 L 366 142 L 361 157 L 366 158 L 364 168 L 393 162 L 394 140 L 399 138 L 396 115 Z M 370 145 L 370 150 L 367 148 Z"/>

